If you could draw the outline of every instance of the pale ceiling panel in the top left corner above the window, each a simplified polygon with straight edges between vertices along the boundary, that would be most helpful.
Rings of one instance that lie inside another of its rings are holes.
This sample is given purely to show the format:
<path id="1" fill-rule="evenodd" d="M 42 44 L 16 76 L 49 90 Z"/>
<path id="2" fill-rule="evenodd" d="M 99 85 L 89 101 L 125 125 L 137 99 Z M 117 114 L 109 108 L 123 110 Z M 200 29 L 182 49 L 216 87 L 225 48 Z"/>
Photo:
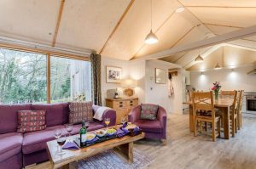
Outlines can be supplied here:
<path id="1" fill-rule="evenodd" d="M 60 0 L 1 0 L 0 36 L 50 44 Z"/>

